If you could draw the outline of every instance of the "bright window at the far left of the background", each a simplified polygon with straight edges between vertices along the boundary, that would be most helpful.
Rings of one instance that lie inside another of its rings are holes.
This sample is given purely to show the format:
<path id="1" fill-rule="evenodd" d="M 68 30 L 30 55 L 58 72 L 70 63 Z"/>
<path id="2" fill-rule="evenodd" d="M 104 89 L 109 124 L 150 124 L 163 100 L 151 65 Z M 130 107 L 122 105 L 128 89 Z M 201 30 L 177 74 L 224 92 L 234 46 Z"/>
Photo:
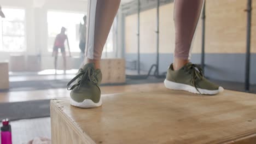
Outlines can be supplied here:
<path id="1" fill-rule="evenodd" d="M 0 50 L 22 52 L 25 50 L 25 10 L 2 9 L 0 18 Z"/>

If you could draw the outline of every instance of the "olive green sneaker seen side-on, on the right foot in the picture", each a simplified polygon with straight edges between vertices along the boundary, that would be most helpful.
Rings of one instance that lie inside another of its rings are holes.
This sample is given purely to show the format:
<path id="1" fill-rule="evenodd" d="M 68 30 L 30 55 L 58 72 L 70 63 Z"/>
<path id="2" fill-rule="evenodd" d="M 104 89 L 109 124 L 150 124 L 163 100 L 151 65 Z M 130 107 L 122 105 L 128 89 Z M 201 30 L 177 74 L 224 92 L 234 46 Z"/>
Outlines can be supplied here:
<path id="1" fill-rule="evenodd" d="M 215 95 L 224 91 L 222 87 L 207 80 L 198 65 L 187 63 L 175 71 L 172 65 L 168 68 L 164 81 L 166 88 L 208 95 Z"/>

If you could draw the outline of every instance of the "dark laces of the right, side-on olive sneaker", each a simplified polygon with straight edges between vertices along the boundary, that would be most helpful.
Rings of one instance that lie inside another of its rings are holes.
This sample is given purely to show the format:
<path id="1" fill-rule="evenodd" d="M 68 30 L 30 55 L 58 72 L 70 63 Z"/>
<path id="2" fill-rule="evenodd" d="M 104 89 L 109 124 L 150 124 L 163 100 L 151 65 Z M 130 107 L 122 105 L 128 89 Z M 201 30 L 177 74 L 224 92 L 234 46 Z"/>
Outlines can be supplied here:
<path id="1" fill-rule="evenodd" d="M 190 80 L 191 85 L 193 85 L 196 88 L 196 91 L 200 93 L 197 88 L 197 80 L 202 80 L 204 77 L 202 68 L 197 64 L 190 64 L 186 69 L 187 70 L 185 71 L 188 71 L 188 73 L 192 75 L 192 79 Z"/>

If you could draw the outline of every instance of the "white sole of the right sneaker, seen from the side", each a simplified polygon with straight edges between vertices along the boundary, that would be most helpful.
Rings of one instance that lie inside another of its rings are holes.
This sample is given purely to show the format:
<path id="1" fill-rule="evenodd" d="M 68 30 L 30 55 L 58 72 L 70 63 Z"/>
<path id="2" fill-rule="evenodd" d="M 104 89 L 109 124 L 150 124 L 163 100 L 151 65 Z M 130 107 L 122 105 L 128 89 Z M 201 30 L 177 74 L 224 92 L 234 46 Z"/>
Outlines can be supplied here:
<path id="1" fill-rule="evenodd" d="M 216 95 L 216 94 L 224 91 L 223 87 L 219 87 L 219 89 L 217 89 L 217 90 L 207 90 L 207 89 L 197 88 L 198 91 L 200 92 L 199 93 L 196 90 L 196 88 L 193 87 L 193 86 L 168 81 L 166 79 L 164 81 L 164 84 L 165 84 L 165 87 L 168 88 L 168 89 L 173 89 L 173 90 L 178 90 L 178 91 L 188 91 L 188 92 L 197 93 L 197 94 L 201 93 L 201 94 L 207 94 L 207 95 Z"/>

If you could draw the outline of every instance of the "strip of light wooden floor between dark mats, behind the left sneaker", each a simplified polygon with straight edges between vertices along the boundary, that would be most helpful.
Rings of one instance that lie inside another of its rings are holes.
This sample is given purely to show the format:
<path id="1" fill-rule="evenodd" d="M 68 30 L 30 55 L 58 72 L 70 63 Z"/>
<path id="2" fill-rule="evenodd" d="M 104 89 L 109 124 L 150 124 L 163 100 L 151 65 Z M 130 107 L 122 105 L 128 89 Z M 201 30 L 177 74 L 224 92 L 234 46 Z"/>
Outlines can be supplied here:
<path id="1" fill-rule="evenodd" d="M 137 91 L 153 91 L 152 88 L 160 88 L 162 83 L 147 83 L 139 85 L 119 85 L 119 86 L 103 86 L 101 94 L 137 92 Z M 36 96 L 35 96 L 36 95 Z M 11 103 L 30 100 L 44 100 L 56 98 L 69 98 L 70 91 L 66 88 L 44 89 L 38 91 L 13 91 L 0 92 L 0 103 Z"/>

